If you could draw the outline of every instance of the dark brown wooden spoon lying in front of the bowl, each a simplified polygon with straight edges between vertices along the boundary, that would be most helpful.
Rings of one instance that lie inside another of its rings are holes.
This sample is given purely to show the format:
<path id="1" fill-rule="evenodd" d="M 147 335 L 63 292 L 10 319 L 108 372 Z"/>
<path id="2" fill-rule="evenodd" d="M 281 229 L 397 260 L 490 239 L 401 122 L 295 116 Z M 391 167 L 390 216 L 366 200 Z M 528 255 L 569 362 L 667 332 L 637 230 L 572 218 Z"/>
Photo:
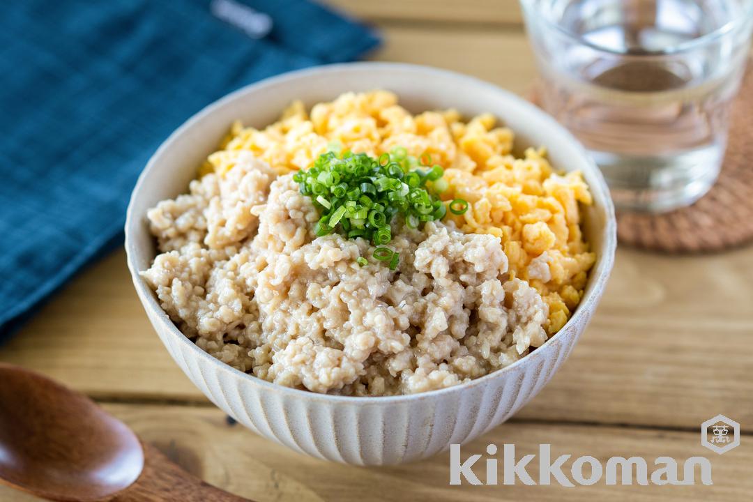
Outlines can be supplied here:
<path id="1" fill-rule="evenodd" d="M 66 502 L 249 502 L 182 470 L 92 400 L 0 364 L 0 482 Z"/>

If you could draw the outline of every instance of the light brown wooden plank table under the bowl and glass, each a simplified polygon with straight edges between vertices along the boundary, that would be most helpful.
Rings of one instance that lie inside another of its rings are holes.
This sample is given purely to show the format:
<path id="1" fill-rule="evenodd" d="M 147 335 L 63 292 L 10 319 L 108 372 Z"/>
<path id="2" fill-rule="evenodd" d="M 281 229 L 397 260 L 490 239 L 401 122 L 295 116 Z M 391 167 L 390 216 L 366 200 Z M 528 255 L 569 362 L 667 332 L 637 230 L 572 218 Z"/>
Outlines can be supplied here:
<path id="1" fill-rule="evenodd" d="M 374 59 L 451 68 L 518 93 L 535 75 L 513 0 L 334 3 L 383 30 Z M 515 443 L 533 453 L 550 443 L 557 455 L 602 463 L 702 455 L 712 486 L 451 487 L 449 455 L 379 469 L 303 457 L 227 424 L 178 370 L 120 250 L 57 294 L 0 348 L 0 361 L 86 392 L 187 470 L 255 500 L 751 500 L 751 302 L 753 248 L 704 257 L 620 249 L 596 318 L 562 370 L 511 421 L 463 449 Z M 700 424 L 719 413 L 742 428 L 742 445 L 724 455 L 700 445 Z M 0 488 L 0 500 L 35 499 Z"/>

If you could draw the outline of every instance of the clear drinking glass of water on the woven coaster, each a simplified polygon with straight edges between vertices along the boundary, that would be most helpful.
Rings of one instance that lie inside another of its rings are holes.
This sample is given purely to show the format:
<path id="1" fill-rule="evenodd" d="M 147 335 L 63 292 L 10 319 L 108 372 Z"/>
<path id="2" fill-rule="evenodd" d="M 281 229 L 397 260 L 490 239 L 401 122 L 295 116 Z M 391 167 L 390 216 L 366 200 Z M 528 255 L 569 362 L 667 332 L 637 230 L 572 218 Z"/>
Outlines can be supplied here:
<path id="1" fill-rule="evenodd" d="M 668 211 L 703 196 L 724 157 L 753 0 L 521 4 L 541 107 L 590 151 L 617 207 Z"/>

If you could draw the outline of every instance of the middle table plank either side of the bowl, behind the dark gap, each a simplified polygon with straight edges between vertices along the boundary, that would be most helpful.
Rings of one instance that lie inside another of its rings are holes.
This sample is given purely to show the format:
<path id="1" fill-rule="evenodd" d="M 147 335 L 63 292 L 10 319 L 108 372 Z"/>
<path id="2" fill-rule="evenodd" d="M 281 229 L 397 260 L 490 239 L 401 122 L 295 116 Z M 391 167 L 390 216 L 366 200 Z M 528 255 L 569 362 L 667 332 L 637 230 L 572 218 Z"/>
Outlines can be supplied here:
<path id="1" fill-rule="evenodd" d="M 751 260 L 753 249 L 618 251 L 592 324 L 517 418 L 691 429 L 724 413 L 753 427 Z M 207 402 L 148 324 L 120 251 L 44 307 L 0 360 L 94 397 Z"/>

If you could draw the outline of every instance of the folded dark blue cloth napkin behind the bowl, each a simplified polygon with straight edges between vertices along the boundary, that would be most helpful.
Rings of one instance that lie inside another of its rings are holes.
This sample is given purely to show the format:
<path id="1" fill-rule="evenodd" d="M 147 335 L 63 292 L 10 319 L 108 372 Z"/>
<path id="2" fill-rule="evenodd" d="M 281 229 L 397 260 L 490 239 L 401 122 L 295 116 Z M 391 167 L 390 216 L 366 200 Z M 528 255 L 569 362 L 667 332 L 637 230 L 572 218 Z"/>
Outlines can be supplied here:
<path id="1" fill-rule="evenodd" d="M 0 339 L 120 242 L 136 177 L 184 120 L 245 84 L 377 44 L 305 0 L 4 2 Z"/>

